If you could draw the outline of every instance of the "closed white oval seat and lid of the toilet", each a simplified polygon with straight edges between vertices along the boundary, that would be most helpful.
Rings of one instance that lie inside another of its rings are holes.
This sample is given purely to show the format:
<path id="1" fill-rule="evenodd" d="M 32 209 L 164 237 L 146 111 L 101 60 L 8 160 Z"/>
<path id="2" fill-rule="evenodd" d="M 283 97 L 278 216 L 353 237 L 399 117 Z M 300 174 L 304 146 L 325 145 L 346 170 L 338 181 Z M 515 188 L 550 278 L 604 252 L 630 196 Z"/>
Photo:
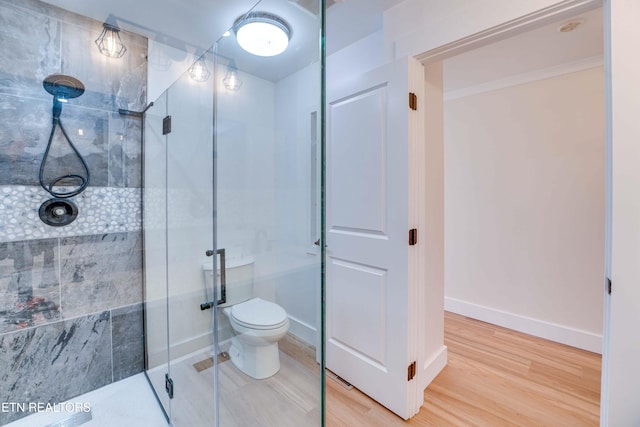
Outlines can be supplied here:
<path id="1" fill-rule="evenodd" d="M 234 305 L 230 314 L 234 322 L 249 329 L 278 329 L 288 323 L 284 308 L 261 298 Z"/>

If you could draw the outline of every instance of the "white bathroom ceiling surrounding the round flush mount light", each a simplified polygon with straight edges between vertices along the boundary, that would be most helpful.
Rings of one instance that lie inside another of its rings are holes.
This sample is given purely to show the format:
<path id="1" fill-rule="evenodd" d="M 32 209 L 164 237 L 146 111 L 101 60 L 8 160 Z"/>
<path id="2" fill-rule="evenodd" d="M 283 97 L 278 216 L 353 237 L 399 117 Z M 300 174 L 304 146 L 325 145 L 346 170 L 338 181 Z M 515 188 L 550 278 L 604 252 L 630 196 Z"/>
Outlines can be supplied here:
<path id="1" fill-rule="evenodd" d="M 282 17 L 292 28 L 289 49 L 273 58 L 243 52 L 225 39 L 219 53 L 239 69 L 277 81 L 318 59 L 319 18 L 297 3 L 317 9 L 319 0 L 43 0 L 102 22 L 116 24 L 188 51 L 212 46 L 234 21 L 255 7 Z M 327 10 L 326 48 L 330 54 L 382 28 L 382 11 L 402 0 L 333 0 Z M 187 48 L 188 45 L 188 48 Z M 310 48 L 312 46 L 312 48 Z M 195 48 L 195 49 L 194 49 Z"/>

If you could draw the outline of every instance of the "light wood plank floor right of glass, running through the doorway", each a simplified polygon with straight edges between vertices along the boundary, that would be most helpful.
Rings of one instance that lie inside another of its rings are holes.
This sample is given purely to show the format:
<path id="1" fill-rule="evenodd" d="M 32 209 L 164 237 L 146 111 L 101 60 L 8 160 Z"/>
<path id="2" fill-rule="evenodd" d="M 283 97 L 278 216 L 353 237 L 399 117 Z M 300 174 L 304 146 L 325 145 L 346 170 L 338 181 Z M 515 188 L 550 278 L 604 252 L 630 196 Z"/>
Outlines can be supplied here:
<path id="1" fill-rule="evenodd" d="M 327 379 L 327 425 L 597 426 L 600 355 L 451 313 L 448 364 L 405 422 Z"/>

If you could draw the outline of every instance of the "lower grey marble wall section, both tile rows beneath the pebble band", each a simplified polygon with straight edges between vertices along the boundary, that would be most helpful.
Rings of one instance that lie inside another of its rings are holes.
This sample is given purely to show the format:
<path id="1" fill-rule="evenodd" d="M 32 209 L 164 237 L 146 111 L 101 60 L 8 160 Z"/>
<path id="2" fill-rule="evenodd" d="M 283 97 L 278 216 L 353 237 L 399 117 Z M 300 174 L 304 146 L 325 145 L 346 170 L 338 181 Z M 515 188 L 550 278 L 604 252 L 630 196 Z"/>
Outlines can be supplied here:
<path id="1" fill-rule="evenodd" d="M 61 402 L 141 372 L 141 275 L 140 232 L 0 243 L 0 401 Z"/>

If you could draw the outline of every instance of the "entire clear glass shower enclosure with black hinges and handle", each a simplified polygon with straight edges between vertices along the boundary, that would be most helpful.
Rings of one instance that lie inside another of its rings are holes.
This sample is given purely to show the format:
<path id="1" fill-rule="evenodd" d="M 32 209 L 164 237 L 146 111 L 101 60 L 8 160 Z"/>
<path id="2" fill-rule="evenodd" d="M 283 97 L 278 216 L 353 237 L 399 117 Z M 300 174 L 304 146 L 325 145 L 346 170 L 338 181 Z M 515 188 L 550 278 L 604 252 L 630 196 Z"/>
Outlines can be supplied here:
<path id="1" fill-rule="evenodd" d="M 144 117 L 145 372 L 174 426 L 323 419 L 323 2 L 262 0 Z M 243 19 L 289 31 L 243 50 Z"/>

